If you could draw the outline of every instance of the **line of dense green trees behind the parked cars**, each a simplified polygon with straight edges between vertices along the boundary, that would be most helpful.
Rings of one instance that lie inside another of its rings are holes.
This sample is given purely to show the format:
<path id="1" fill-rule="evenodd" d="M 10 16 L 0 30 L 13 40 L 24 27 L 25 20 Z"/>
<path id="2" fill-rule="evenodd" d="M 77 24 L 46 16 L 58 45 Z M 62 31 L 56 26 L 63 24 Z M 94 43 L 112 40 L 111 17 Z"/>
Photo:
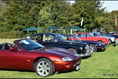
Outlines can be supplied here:
<path id="1" fill-rule="evenodd" d="M 73 4 L 66 0 L 1 0 L 0 37 L 19 37 L 30 26 L 41 29 L 78 26 L 88 32 L 94 28 L 113 31 L 114 13 L 105 12 L 101 6 L 99 0 L 75 0 Z"/>

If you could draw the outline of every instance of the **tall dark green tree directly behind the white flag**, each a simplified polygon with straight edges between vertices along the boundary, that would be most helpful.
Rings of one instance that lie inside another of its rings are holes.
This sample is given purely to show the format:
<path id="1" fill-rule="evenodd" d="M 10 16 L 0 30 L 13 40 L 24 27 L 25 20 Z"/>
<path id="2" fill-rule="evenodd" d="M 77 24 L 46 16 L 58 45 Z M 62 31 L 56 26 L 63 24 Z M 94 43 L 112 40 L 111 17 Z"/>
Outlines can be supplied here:
<path id="1" fill-rule="evenodd" d="M 78 15 L 78 17 L 75 19 L 76 22 L 79 22 L 78 25 L 80 25 L 81 18 L 84 19 L 84 28 L 86 28 L 88 31 L 91 31 L 93 28 L 96 28 L 98 25 L 100 25 L 96 18 L 102 14 L 103 10 L 100 9 L 101 5 L 98 0 L 76 0 L 73 7 L 75 8 L 76 15 Z"/>

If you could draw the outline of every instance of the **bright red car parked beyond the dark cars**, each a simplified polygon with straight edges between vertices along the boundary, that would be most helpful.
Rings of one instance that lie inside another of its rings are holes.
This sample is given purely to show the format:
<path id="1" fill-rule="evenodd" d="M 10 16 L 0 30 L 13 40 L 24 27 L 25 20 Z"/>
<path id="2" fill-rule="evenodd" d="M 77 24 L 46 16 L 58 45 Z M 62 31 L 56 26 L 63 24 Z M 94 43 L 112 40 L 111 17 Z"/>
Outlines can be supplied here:
<path id="1" fill-rule="evenodd" d="M 89 33 L 74 33 L 74 35 L 77 35 L 79 38 L 82 40 L 89 40 L 89 41 L 101 41 L 104 44 L 109 44 L 110 41 L 107 38 L 104 37 L 97 37 L 97 36 L 92 36 Z"/>

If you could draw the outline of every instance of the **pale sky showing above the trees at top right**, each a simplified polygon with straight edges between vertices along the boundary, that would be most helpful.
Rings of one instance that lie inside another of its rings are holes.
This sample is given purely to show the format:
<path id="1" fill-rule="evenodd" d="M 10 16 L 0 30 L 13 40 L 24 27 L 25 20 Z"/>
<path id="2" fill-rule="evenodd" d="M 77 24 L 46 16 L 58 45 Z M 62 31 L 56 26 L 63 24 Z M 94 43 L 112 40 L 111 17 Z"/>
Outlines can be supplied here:
<path id="1" fill-rule="evenodd" d="M 70 1 L 71 3 L 74 2 L 73 1 Z M 106 7 L 105 11 L 107 12 L 112 12 L 112 10 L 118 10 L 118 1 L 117 0 L 101 0 L 101 2 L 103 2 L 103 5 L 102 7 Z"/>

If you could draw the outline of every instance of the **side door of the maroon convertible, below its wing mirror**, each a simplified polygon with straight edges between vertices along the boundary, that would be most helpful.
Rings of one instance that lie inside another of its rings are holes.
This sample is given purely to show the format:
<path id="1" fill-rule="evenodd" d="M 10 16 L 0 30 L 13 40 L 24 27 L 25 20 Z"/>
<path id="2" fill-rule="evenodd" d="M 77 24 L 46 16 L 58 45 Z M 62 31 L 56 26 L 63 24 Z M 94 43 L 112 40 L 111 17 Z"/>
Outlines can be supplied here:
<path id="1" fill-rule="evenodd" d="M 20 51 L 0 49 L 0 68 L 19 69 L 24 67 L 24 56 Z"/>

